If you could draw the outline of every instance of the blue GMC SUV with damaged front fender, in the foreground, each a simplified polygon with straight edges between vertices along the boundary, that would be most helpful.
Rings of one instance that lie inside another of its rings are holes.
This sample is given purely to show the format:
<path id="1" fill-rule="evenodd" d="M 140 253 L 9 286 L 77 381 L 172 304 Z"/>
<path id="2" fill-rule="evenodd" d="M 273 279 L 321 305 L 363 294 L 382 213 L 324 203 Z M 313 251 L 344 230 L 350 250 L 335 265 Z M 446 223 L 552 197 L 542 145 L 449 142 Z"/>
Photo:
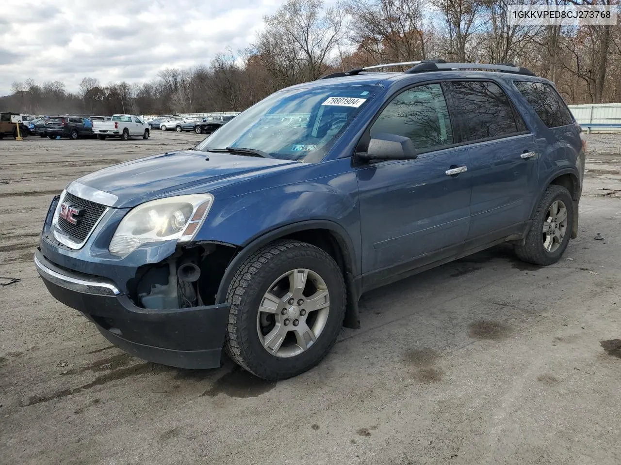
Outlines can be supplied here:
<path id="1" fill-rule="evenodd" d="M 283 379 L 360 326 L 371 288 L 501 242 L 555 263 L 584 145 L 553 84 L 408 64 L 283 89 L 194 148 L 71 182 L 34 257 L 43 282 L 135 356 L 214 368 L 224 348 Z"/>

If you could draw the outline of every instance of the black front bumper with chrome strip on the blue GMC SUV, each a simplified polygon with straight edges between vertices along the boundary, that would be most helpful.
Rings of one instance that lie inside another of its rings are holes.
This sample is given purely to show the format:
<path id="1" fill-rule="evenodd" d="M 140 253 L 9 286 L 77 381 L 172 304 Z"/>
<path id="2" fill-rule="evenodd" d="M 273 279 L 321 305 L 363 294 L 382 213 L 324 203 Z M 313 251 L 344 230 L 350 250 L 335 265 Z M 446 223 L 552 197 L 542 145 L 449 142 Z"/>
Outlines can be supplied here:
<path id="1" fill-rule="evenodd" d="M 220 366 L 230 304 L 144 309 L 112 281 L 60 268 L 40 250 L 34 261 L 55 299 L 84 314 L 107 340 L 126 352 L 179 368 Z"/>

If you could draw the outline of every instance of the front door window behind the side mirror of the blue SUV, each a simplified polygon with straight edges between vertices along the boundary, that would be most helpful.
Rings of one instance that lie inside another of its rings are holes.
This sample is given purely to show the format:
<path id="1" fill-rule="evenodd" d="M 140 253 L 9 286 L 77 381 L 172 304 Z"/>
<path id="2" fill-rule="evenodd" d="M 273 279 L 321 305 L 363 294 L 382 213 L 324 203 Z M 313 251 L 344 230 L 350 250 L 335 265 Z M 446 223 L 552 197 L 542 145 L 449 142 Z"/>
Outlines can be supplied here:
<path id="1" fill-rule="evenodd" d="M 413 87 L 394 97 L 371 126 L 371 137 L 378 133 L 410 138 L 419 152 L 453 144 L 442 86 Z"/>

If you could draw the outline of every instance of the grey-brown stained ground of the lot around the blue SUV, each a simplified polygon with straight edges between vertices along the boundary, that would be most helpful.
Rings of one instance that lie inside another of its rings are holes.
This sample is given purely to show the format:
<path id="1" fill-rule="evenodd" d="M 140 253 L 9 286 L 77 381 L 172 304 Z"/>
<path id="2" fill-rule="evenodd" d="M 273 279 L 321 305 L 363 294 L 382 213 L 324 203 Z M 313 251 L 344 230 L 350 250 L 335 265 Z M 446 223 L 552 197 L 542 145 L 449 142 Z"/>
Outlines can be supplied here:
<path id="1" fill-rule="evenodd" d="M 0 286 L 0 463 L 621 463 L 621 136 L 585 137 L 561 262 L 498 247 L 368 293 L 362 329 L 279 383 L 127 356 L 32 264 L 70 180 L 196 135 L 1 140 L 0 276 L 20 281 Z"/>

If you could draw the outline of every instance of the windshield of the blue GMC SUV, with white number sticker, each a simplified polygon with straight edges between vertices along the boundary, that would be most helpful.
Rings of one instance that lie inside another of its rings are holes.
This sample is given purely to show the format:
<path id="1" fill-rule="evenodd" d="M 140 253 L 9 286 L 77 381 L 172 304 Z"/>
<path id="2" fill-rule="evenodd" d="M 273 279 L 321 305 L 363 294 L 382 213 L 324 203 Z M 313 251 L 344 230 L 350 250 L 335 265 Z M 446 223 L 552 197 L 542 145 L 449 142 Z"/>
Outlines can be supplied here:
<path id="1" fill-rule="evenodd" d="M 246 148 L 274 158 L 319 162 L 377 86 L 324 86 L 276 92 L 230 120 L 197 149 Z"/>

